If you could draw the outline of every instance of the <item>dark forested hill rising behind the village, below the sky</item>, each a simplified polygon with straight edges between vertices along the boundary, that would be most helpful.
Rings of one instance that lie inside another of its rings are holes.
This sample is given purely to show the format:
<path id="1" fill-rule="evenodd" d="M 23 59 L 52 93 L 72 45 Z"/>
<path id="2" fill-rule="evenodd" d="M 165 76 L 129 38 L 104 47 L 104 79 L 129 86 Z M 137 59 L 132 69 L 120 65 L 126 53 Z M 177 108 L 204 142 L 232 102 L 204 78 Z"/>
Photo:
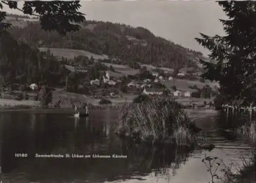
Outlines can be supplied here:
<path id="1" fill-rule="evenodd" d="M 195 61 L 203 56 L 201 52 L 157 37 L 142 27 L 87 21 L 79 31 L 61 36 L 42 30 L 37 23 L 26 24 L 23 28 L 9 30 L 16 40 L 36 47 L 72 48 L 105 54 L 111 62 L 121 64 L 140 62 L 177 69 L 196 67 Z"/>

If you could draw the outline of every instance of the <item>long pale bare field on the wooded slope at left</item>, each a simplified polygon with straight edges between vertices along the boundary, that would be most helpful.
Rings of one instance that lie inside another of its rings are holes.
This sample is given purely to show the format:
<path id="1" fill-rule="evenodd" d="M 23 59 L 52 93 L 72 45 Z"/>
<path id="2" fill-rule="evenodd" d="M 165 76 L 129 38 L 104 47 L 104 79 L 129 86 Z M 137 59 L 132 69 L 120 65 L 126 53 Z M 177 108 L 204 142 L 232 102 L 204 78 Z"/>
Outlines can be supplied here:
<path id="1" fill-rule="evenodd" d="M 68 59 L 74 59 L 74 56 L 79 56 L 79 55 L 84 55 L 87 57 L 93 57 L 94 59 L 107 59 L 109 58 L 106 55 L 98 55 L 91 53 L 89 51 L 84 51 L 84 50 L 75 50 L 75 49 L 68 49 L 68 48 L 45 48 L 41 47 L 38 48 L 40 51 L 47 51 L 48 49 L 53 53 L 54 56 L 61 58 L 66 57 Z"/>

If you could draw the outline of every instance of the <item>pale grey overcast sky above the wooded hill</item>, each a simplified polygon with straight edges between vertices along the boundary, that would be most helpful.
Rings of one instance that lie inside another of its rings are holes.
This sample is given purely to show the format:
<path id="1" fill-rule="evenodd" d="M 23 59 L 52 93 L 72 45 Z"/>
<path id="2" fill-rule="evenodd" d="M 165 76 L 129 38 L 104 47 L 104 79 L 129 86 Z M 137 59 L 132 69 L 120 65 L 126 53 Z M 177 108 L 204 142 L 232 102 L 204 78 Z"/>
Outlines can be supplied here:
<path id="1" fill-rule="evenodd" d="M 23 3 L 18 3 L 22 7 Z M 219 19 L 227 19 L 215 1 L 82 1 L 80 11 L 86 19 L 141 26 L 186 48 L 201 51 L 195 37 L 224 35 Z M 21 14 L 4 6 L 8 13 Z"/>

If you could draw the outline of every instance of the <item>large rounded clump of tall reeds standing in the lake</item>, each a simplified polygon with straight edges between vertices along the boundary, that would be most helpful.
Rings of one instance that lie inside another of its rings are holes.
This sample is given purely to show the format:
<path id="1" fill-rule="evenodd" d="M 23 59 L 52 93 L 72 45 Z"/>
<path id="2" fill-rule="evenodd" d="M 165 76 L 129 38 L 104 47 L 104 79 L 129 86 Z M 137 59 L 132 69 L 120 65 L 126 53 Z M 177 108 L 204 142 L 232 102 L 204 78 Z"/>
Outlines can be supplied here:
<path id="1" fill-rule="evenodd" d="M 138 141 L 191 146 L 196 144 L 199 131 L 175 100 L 152 96 L 122 106 L 117 134 Z"/>

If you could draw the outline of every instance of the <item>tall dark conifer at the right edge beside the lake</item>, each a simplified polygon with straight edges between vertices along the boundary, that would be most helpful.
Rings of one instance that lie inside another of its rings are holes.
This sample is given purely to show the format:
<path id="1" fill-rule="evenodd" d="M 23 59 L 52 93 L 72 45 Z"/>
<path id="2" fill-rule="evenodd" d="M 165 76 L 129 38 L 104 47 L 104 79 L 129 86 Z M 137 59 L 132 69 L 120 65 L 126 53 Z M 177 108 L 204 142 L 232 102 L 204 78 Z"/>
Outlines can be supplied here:
<path id="1" fill-rule="evenodd" d="M 217 64 L 204 64 L 207 72 L 202 77 L 220 83 L 222 101 L 244 100 L 255 104 L 255 2 L 218 2 L 229 17 L 221 19 L 226 35 L 207 36 L 200 33 L 197 42 L 209 49 L 210 59 Z"/>

